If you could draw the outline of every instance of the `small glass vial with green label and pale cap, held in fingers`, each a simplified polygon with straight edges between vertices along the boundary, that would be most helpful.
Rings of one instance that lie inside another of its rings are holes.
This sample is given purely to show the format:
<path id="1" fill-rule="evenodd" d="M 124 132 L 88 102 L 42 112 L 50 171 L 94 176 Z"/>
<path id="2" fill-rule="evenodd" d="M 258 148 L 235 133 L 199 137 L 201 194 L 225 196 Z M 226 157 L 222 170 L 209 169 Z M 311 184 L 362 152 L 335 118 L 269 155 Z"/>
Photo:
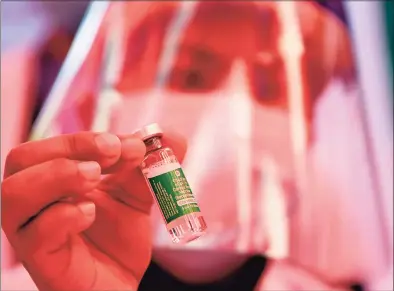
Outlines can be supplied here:
<path id="1" fill-rule="evenodd" d="M 146 145 L 141 170 L 160 208 L 174 243 L 188 243 L 205 233 L 207 225 L 181 165 L 169 147 L 163 147 L 163 131 L 156 123 L 136 132 Z"/>

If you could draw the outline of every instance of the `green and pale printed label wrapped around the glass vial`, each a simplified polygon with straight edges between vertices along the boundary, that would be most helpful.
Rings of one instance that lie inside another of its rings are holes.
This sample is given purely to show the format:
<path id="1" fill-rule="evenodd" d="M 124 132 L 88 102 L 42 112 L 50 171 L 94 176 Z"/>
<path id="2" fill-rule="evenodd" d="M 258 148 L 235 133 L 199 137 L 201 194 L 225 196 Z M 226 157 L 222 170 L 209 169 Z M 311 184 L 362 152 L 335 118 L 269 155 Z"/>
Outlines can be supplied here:
<path id="1" fill-rule="evenodd" d="M 146 177 L 167 223 L 185 214 L 200 212 L 179 163 L 153 166 Z"/>

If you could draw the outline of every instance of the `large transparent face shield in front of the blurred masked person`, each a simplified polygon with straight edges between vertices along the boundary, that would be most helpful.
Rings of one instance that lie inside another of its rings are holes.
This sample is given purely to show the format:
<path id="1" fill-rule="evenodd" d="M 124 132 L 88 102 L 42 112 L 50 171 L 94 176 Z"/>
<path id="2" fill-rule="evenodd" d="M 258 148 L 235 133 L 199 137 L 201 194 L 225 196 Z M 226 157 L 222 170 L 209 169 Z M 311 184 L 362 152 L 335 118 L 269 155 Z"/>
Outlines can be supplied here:
<path id="1" fill-rule="evenodd" d="M 381 263 L 381 234 L 354 77 L 345 24 L 312 2 L 94 2 L 33 138 L 158 122 L 189 140 L 209 225 L 176 248 L 356 280 L 366 254 Z M 157 209 L 152 220 L 156 248 L 174 248 Z"/>

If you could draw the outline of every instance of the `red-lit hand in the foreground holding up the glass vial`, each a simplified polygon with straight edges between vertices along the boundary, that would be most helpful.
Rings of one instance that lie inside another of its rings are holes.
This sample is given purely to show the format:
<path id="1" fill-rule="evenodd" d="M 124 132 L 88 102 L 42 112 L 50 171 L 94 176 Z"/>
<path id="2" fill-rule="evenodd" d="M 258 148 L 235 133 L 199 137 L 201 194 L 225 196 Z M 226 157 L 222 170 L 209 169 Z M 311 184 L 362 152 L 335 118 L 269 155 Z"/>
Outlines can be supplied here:
<path id="1" fill-rule="evenodd" d="M 182 138 L 163 143 L 183 158 Z M 89 132 L 10 152 L 2 227 L 40 290 L 137 290 L 152 248 L 144 154 L 133 136 Z"/>

